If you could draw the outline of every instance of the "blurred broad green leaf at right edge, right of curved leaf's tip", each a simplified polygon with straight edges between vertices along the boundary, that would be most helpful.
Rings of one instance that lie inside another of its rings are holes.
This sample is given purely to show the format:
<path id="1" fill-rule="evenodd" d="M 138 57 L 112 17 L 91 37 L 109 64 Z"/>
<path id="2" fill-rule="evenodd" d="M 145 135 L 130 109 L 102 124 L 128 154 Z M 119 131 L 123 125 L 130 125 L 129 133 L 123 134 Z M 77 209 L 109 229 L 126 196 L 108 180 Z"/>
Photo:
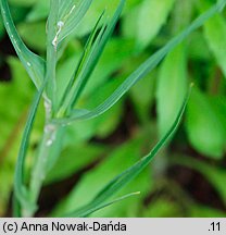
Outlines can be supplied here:
<path id="1" fill-rule="evenodd" d="M 224 126 L 208 97 L 193 89 L 188 103 L 186 129 L 193 148 L 211 158 L 221 159 L 225 148 Z"/>

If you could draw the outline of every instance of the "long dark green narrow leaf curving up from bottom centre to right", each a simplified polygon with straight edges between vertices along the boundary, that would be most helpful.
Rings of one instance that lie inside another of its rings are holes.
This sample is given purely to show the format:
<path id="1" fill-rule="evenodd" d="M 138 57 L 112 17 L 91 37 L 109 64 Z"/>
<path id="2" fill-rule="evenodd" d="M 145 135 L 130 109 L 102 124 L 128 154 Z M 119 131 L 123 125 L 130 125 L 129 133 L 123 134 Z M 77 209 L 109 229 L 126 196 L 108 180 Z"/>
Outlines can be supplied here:
<path id="1" fill-rule="evenodd" d="M 116 194 L 118 190 L 125 187 L 128 183 L 130 183 L 151 162 L 151 160 L 156 156 L 156 153 L 161 150 L 161 148 L 166 144 L 168 138 L 177 129 L 179 122 L 181 120 L 181 116 L 185 112 L 189 96 L 190 96 L 190 90 L 186 99 L 184 100 L 184 103 L 172 127 L 163 136 L 163 138 L 155 145 L 155 147 L 151 150 L 151 152 L 147 154 L 146 157 L 143 157 L 140 161 L 135 163 L 131 168 L 127 169 L 122 174 L 116 176 L 97 195 L 97 197 L 90 203 L 88 203 L 81 209 L 78 209 L 74 213 L 71 213 L 71 217 L 78 217 L 80 214 L 88 215 L 89 213 L 93 212 L 96 208 L 98 209 L 101 208 L 101 205 L 103 205 L 105 200 L 108 200 L 110 197 L 112 197 L 114 194 Z"/>

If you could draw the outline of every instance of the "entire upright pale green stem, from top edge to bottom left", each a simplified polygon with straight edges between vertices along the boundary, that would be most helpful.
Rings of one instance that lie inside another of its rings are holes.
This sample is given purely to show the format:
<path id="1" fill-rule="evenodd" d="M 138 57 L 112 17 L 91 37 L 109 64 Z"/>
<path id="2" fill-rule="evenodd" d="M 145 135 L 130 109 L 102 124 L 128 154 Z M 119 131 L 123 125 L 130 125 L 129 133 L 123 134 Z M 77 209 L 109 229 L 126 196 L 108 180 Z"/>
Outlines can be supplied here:
<path id="1" fill-rule="evenodd" d="M 43 128 L 43 136 L 38 149 L 38 156 L 32 171 L 32 178 L 29 184 L 29 200 L 33 208 L 23 210 L 24 217 L 33 217 L 37 211 L 37 201 L 41 190 L 43 181 L 56 161 L 61 152 L 61 139 L 63 135 L 63 127 L 51 123 L 51 119 L 55 112 L 56 106 L 56 81 L 55 67 L 58 55 L 58 14 L 59 0 L 51 0 L 50 14 L 47 25 L 47 63 L 46 63 L 46 81 L 47 81 L 47 96 L 45 97 L 46 107 L 46 125 Z"/>

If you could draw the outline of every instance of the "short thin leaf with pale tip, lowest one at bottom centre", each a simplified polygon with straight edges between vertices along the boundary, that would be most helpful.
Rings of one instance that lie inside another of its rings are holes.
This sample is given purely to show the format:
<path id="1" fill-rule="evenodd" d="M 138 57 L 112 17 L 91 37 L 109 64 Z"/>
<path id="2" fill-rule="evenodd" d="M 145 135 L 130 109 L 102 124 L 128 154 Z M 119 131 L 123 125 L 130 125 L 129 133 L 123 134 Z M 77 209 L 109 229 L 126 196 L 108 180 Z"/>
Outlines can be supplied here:
<path id="1" fill-rule="evenodd" d="M 111 206 L 113 203 L 125 200 L 125 199 L 130 198 L 133 196 L 137 196 L 139 194 L 140 194 L 140 191 L 131 193 L 131 194 L 125 195 L 123 197 L 120 197 L 117 199 L 114 199 L 114 200 L 112 200 L 110 202 L 98 205 L 97 207 L 93 207 L 92 205 L 88 205 L 87 207 L 84 207 L 80 210 L 77 210 L 75 213 L 66 214 L 65 217 L 66 218 L 86 218 L 86 217 L 88 217 L 89 214 L 91 214 L 91 213 L 93 213 L 96 211 L 99 211 L 99 210 L 101 210 L 101 209 L 103 209 L 105 207 L 109 207 L 109 206 Z"/>

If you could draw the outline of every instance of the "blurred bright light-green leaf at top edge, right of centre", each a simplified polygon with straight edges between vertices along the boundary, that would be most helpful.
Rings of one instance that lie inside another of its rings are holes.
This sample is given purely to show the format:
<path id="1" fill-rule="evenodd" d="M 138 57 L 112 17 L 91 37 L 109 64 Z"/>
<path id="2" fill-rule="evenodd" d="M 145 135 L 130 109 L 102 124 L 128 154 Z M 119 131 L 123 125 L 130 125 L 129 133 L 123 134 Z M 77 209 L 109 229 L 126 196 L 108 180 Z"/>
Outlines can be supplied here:
<path id="1" fill-rule="evenodd" d="M 140 52 L 158 35 L 174 2 L 175 0 L 145 0 L 123 17 L 123 34 L 136 40 L 136 50 Z"/>

